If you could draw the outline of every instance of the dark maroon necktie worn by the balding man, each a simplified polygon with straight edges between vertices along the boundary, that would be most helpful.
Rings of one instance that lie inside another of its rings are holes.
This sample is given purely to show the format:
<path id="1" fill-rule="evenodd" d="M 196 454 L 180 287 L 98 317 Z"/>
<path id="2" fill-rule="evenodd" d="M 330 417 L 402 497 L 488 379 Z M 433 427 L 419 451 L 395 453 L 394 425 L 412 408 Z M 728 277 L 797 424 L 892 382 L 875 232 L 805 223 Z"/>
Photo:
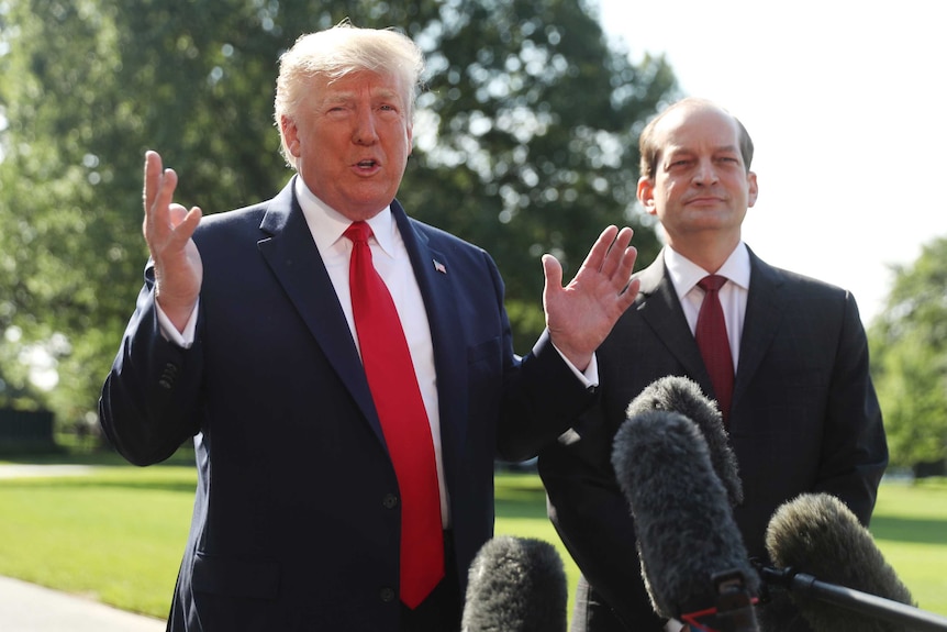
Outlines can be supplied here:
<path id="1" fill-rule="evenodd" d="M 726 322 L 717 290 L 726 281 L 726 277 L 718 275 L 710 275 L 698 281 L 698 286 L 706 293 L 701 303 L 694 332 L 725 423 L 729 418 L 729 404 L 733 398 L 733 355 L 729 351 Z"/>

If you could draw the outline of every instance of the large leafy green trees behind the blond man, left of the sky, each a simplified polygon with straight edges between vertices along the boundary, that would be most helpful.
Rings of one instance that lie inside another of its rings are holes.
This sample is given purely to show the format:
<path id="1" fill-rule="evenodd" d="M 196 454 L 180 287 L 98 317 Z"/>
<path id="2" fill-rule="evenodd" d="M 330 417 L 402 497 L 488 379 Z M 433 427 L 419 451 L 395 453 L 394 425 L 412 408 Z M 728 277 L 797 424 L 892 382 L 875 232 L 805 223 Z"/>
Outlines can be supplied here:
<path id="1" fill-rule="evenodd" d="M 579 0 L 7 0 L 0 2 L 0 403 L 94 409 L 147 255 L 142 163 L 205 213 L 289 178 L 272 122 L 277 59 L 344 18 L 403 30 L 430 62 L 399 198 L 486 247 L 517 348 L 543 328 L 539 255 L 575 273 L 633 212 L 637 132 L 676 96 L 664 58 L 630 62 Z M 640 257 L 657 251 L 649 230 Z M 568 278 L 568 277 L 567 277 Z M 38 393 L 29 358 L 56 363 Z"/>

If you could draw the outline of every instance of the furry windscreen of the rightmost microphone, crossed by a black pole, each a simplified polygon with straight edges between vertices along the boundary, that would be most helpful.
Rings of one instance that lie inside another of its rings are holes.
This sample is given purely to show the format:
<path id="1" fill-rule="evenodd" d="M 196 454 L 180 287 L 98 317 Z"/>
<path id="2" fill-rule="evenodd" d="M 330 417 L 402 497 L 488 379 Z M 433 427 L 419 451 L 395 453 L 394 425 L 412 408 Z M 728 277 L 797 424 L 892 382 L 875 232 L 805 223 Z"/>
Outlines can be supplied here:
<path id="1" fill-rule="evenodd" d="M 871 533 L 842 500 L 828 494 L 803 494 L 780 506 L 769 522 L 766 547 L 777 568 L 913 606 L 911 591 L 884 561 Z M 903 630 L 857 610 L 790 592 L 800 613 L 816 631 Z"/>

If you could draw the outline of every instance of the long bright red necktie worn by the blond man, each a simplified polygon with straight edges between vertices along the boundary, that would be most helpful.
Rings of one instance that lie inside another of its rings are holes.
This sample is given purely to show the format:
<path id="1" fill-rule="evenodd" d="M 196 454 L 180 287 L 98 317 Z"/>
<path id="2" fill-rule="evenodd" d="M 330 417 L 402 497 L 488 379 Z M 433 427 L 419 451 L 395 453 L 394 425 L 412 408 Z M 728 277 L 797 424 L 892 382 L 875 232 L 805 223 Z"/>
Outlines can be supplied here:
<path id="1" fill-rule="evenodd" d="M 444 576 L 434 443 L 394 301 L 371 263 L 371 229 L 354 222 L 348 285 L 361 363 L 401 492 L 401 600 L 417 607 Z"/>

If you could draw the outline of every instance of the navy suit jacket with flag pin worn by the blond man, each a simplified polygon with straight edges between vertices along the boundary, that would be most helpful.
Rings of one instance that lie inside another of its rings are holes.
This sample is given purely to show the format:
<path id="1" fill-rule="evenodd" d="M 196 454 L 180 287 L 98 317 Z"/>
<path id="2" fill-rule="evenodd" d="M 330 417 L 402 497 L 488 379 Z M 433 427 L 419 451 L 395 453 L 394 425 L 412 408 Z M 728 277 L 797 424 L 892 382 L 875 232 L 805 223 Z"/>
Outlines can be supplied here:
<path id="1" fill-rule="evenodd" d="M 520 362 L 489 255 L 392 213 L 431 323 L 461 589 L 493 530 L 493 459 L 533 456 L 593 399 L 545 345 Z M 400 506 L 368 384 L 292 182 L 207 217 L 196 343 L 159 333 L 153 270 L 105 381 L 131 462 L 196 435 L 169 630 L 398 630 Z M 435 269 L 434 260 L 446 274 Z"/>

